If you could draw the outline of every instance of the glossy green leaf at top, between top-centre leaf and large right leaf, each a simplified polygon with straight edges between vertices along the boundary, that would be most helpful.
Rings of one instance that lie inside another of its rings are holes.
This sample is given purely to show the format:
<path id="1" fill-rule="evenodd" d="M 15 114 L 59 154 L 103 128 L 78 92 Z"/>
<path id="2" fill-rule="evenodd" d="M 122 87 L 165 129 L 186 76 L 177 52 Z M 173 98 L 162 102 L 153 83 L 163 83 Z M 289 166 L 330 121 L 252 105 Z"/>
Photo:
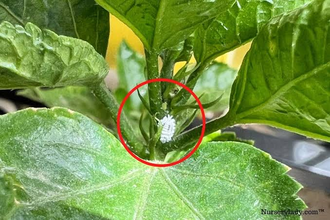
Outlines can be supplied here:
<path id="1" fill-rule="evenodd" d="M 245 44 L 270 19 L 311 0 L 235 0 L 217 18 L 204 23 L 195 33 L 194 55 L 209 62 Z"/>

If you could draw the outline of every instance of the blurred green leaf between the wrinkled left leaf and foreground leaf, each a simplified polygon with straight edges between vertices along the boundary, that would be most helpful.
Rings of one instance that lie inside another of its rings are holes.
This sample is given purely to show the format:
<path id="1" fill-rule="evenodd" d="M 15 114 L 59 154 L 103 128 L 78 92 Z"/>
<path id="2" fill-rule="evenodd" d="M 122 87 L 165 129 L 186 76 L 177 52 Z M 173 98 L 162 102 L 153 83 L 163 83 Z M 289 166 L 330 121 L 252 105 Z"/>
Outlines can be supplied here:
<path id="1" fill-rule="evenodd" d="M 113 122 L 109 110 L 87 87 L 68 86 L 55 89 L 25 89 L 18 91 L 18 95 L 41 102 L 47 107 L 63 107 L 77 111 L 106 126 Z"/>

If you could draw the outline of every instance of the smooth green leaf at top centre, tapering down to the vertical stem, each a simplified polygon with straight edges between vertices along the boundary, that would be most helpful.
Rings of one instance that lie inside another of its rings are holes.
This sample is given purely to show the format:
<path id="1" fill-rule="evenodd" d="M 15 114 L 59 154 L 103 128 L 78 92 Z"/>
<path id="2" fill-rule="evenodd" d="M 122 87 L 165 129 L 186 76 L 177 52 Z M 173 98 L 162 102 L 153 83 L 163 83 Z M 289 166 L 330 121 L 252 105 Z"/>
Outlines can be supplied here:
<path id="1" fill-rule="evenodd" d="M 147 48 L 160 52 L 182 42 L 235 0 L 96 0 L 126 23 Z"/>

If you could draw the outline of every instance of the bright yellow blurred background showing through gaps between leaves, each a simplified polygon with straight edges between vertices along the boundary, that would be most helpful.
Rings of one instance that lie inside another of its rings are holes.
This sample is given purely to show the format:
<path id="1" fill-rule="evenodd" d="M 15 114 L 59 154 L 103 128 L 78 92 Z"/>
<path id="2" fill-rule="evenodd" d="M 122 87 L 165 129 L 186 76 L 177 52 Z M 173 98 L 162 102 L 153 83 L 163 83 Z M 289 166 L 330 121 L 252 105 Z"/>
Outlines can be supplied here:
<path id="1" fill-rule="evenodd" d="M 144 54 L 143 44 L 140 39 L 123 22 L 110 15 L 110 38 L 106 59 L 111 69 L 116 69 L 117 52 L 122 40 L 125 40 L 133 50 L 140 54 Z M 227 63 L 230 67 L 238 69 L 242 63 L 244 55 L 250 49 L 250 46 L 250 43 L 245 44 L 232 52 L 218 57 L 216 60 Z M 192 58 L 190 62 L 194 63 L 196 61 Z M 175 66 L 175 72 L 183 65 L 184 62 L 177 63 Z"/>

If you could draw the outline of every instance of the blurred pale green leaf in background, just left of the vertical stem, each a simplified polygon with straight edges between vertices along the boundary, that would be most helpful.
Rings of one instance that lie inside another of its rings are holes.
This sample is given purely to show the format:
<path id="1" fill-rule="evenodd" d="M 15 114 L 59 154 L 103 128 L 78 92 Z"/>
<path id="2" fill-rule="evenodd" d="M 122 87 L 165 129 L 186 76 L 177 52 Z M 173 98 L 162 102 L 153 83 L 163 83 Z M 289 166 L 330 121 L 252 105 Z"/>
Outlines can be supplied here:
<path id="1" fill-rule="evenodd" d="M 133 51 L 125 41 L 120 44 L 117 63 L 117 73 L 119 78 L 118 89 L 125 91 L 125 95 L 137 84 L 146 81 L 144 75 L 146 60 L 144 56 Z M 147 92 L 147 89 L 143 87 L 139 90 L 142 94 L 146 94 Z M 121 102 L 122 99 L 118 101 Z M 140 109 L 141 102 L 137 92 L 133 92 L 130 95 L 128 98 L 128 105 L 129 110 Z"/>

